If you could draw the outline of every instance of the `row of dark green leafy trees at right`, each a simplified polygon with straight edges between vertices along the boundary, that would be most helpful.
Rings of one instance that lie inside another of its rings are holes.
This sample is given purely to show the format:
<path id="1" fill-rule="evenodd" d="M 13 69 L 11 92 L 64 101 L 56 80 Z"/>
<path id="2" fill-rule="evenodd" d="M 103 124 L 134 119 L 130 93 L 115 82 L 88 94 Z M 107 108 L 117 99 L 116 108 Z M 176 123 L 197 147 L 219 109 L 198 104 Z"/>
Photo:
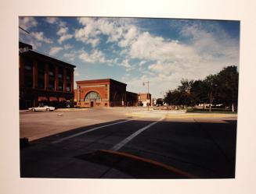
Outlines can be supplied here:
<path id="1" fill-rule="evenodd" d="M 193 107 L 197 104 L 222 104 L 237 109 L 238 100 L 237 66 L 227 66 L 222 71 L 209 75 L 205 79 L 182 79 L 181 85 L 175 90 L 169 90 L 164 97 L 168 105 Z"/>

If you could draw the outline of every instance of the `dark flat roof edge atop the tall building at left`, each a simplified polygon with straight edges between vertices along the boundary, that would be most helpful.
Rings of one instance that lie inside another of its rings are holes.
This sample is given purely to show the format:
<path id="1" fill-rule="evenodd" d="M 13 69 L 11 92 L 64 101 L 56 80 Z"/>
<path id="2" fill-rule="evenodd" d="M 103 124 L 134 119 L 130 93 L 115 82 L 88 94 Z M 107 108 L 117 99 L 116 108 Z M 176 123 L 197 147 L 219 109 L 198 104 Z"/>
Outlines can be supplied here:
<path id="1" fill-rule="evenodd" d="M 62 65 L 70 66 L 70 67 L 72 67 L 72 68 L 75 68 L 75 67 L 76 67 L 75 65 L 72 65 L 72 64 L 70 64 L 69 62 L 64 62 L 62 59 L 55 58 L 55 57 L 52 57 L 52 56 L 50 56 L 50 55 L 42 54 L 42 53 L 39 52 L 39 51 L 35 51 L 35 50 L 31 50 L 31 49 L 28 49 L 27 51 L 20 52 L 20 55 L 34 55 L 34 56 L 39 56 L 39 57 L 41 57 L 41 58 L 45 58 L 45 59 L 48 60 L 49 62 L 60 63 L 60 64 L 62 64 Z"/>

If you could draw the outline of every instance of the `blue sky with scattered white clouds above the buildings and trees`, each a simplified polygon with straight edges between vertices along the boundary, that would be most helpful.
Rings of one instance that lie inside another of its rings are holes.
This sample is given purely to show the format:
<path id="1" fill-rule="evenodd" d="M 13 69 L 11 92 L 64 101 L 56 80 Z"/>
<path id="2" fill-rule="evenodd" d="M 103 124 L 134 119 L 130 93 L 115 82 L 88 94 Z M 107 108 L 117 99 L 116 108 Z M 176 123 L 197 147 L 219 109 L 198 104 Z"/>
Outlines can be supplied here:
<path id="1" fill-rule="evenodd" d="M 74 80 L 111 78 L 153 97 L 181 79 L 239 66 L 240 22 L 199 19 L 20 17 L 20 41 L 76 65 Z"/>

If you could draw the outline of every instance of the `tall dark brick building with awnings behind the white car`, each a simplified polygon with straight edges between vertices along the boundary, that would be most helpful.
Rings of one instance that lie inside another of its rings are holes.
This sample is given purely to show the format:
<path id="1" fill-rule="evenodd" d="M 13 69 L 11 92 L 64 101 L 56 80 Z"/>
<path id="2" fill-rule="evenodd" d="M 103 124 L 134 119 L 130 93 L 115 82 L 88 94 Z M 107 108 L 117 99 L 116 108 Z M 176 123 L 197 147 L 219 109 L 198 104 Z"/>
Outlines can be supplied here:
<path id="1" fill-rule="evenodd" d="M 74 65 L 19 42 L 20 109 L 48 104 L 66 107 L 74 99 Z"/>

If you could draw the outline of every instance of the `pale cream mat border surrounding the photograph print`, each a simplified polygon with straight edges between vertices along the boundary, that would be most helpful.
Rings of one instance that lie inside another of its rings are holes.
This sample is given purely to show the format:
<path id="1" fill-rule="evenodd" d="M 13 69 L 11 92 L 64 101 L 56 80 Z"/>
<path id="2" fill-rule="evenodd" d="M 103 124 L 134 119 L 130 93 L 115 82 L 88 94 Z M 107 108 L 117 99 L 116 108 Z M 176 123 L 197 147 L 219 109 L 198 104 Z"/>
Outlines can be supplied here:
<path id="1" fill-rule="evenodd" d="M 256 3 L 252 0 L 197 1 L 6 1 L 1 8 L 1 111 L 0 192 L 2 193 L 256 193 L 254 137 L 254 46 Z M 118 16 L 176 19 L 240 20 L 240 83 L 236 140 L 236 178 L 193 180 L 124 180 L 20 178 L 19 151 L 19 16 Z M 6 69 L 6 66 L 8 67 Z M 4 72 L 4 73 L 3 73 Z"/>

